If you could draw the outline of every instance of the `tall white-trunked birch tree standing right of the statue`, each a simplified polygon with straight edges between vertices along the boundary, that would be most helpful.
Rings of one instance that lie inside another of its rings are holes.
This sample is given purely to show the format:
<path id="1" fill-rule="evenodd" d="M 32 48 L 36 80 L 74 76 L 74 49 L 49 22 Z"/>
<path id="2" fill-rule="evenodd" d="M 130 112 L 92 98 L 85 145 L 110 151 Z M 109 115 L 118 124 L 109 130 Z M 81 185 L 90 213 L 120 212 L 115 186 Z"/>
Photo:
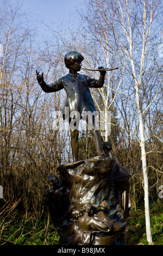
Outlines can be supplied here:
<path id="1" fill-rule="evenodd" d="M 118 47 L 120 47 L 120 52 L 123 53 L 124 58 L 128 59 L 130 62 L 131 68 L 130 71 L 128 66 L 126 65 L 127 71 L 133 76 L 134 80 L 134 89 L 135 89 L 135 105 L 137 108 L 137 115 L 139 118 L 139 132 L 140 132 L 140 147 L 141 147 L 141 160 L 142 160 L 142 170 L 143 170 L 143 187 L 145 192 L 145 216 L 146 216 L 146 234 L 147 241 L 149 245 L 152 245 L 152 234 L 151 234 L 151 224 L 150 224 L 150 216 L 149 216 L 149 193 L 148 193 L 148 172 L 147 172 L 147 161 L 146 161 L 146 129 L 145 122 L 143 121 L 143 116 L 145 115 L 147 109 L 152 105 L 156 97 L 158 96 L 158 92 L 160 91 L 160 84 L 158 84 L 158 90 L 156 90 L 155 95 L 153 96 L 153 100 L 146 105 L 145 109 L 143 109 L 142 98 L 141 98 L 141 86 L 143 81 L 143 76 L 151 69 L 154 59 L 156 58 L 156 54 L 158 51 L 158 46 L 154 47 L 151 57 L 148 59 L 148 51 L 151 53 L 151 40 L 157 40 L 158 43 L 161 42 L 161 33 L 158 28 L 158 36 L 155 37 L 154 33 L 154 20 L 156 17 L 156 9 L 159 7 L 159 2 L 153 1 L 120 1 L 112 3 L 112 7 L 115 11 L 115 20 L 116 24 L 121 26 L 122 31 L 124 32 L 124 38 L 128 43 L 128 48 L 126 45 L 123 45 L 123 39 L 120 37 L 120 34 L 117 33 L 117 29 L 114 27 L 112 32 L 114 33 L 115 40 L 117 41 Z M 139 14 L 135 13 L 134 8 L 137 4 L 137 11 Z M 136 17 L 136 15 L 139 17 Z M 134 17 L 134 20 L 133 20 Z M 135 23 L 135 24 L 134 24 Z M 139 24 L 140 23 L 140 24 Z M 135 27 L 137 26 L 136 32 Z M 136 42 L 137 41 L 137 42 Z M 139 43 L 141 46 L 139 48 L 139 68 L 137 68 L 137 61 L 135 61 L 134 51 L 136 48 L 136 44 Z M 153 41 L 154 43 L 154 41 Z M 118 51 L 117 51 L 118 53 Z M 120 54 L 117 56 L 121 59 Z M 146 64 L 145 64 L 146 63 Z M 123 64 L 123 63 L 122 63 Z"/>

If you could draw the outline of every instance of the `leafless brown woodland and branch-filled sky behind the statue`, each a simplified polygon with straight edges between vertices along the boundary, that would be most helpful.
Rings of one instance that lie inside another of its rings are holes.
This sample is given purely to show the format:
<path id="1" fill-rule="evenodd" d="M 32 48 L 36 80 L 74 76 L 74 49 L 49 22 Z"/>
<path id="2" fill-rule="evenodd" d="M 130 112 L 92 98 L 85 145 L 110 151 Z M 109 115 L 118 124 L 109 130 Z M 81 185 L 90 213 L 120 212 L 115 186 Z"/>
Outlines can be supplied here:
<path id="1" fill-rule="evenodd" d="M 156 0 L 87 1 L 87 13 L 78 10 L 79 29 L 71 22 L 61 24 L 58 32 L 47 26 L 51 36 L 38 42 L 21 7 L 1 3 L 0 243 L 11 240 L 3 234 L 17 218 L 21 232 L 14 244 L 27 222 L 33 220 L 33 230 L 41 218 L 47 244 L 50 219 L 43 196 L 48 176 L 59 175 L 57 167 L 72 161 L 72 155 L 69 131 L 54 129 L 54 113 L 62 111 L 65 92 L 44 93 L 35 70 L 43 72 L 47 83 L 54 82 L 67 74 L 64 56 L 72 50 L 83 54 L 83 68 L 118 66 L 107 72 L 102 89 L 91 89 L 99 114 L 111 113 L 111 133 L 105 132 L 101 141 L 112 143 L 117 162 L 129 170 L 133 210 L 144 205 L 146 188 L 149 205 L 162 208 L 162 10 Z M 93 156 L 91 135 L 81 130 L 79 157 Z"/>

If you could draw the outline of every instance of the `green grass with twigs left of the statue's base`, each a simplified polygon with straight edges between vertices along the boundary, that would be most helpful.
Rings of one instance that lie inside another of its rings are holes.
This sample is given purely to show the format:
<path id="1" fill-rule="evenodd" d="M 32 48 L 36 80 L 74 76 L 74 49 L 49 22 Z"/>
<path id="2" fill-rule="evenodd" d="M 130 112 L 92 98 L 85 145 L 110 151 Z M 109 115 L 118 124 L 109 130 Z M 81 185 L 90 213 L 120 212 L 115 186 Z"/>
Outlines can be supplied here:
<path id="1" fill-rule="evenodd" d="M 19 216 L 9 225 L 8 221 L 5 220 L 0 245 L 57 245 L 59 242 L 57 230 L 50 222 L 47 231 L 45 219 L 30 218 L 25 223 L 24 218 Z"/>

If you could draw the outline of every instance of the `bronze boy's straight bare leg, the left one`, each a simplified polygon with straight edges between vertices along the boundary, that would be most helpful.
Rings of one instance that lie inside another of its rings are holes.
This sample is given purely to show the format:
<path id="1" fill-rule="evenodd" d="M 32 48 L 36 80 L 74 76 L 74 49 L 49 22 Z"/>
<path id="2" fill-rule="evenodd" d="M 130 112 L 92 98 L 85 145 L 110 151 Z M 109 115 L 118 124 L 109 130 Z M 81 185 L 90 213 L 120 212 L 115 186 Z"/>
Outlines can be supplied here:
<path id="1" fill-rule="evenodd" d="M 71 148 L 72 148 L 73 162 L 77 162 L 78 151 L 79 151 L 79 142 L 78 142 L 79 131 L 70 129 L 70 134 L 71 134 Z"/>

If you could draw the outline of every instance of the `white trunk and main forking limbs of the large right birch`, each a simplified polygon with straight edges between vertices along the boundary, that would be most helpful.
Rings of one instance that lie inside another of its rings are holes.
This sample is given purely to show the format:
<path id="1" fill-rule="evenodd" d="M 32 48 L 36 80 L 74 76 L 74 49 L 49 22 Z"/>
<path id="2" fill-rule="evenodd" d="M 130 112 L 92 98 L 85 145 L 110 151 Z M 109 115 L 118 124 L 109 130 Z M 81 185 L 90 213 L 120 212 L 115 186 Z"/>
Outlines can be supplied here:
<path id="1" fill-rule="evenodd" d="M 140 95 L 139 95 L 139 88 L 141 84 L 141 79 L 143 75 L 143 68 L 145 63 L 145 56 L 146 56 L 146 50 L 147 50 L 147 42 L 149 38 L 149 33 L 151 29 L 152 24 L 152 2 L 151 2 L 151 19 L 149 22 L 149 26 L 147 28 L 147 17 L 146 17 L 146 1 L 143 1 L 143 38 L 142 38 L 142 55 L 141 55 L 141 63 L 140 63 L 140 72 L 139 74 L 136 74 L 135 71 L 135 64 L 133 59 L 133 41 L 132 41 L 132 32 L 131 32 L 131 25 L 130 25 L 130 17 L 131 17 L 131 11 L 129 11 L 128 7 L 128 0 L 124 2 L 124 7 L 126 10 L 126 16 L 128 20 L 128 28 L 129 31 L 127 31 L 126 23 L 124 21 L 123 17 L 123 11 L 122 11 L 122 5 L 120 1 L 118 1 L 120 11 L 121 11 L 121 24 L 122 28 L 124 29 L 124 32 L 126 33 L 129 46 L 130 46 L 130 53 L 129 53 L 129 60 L 132 66 L 133 71 L 133 78 L 135 82 L 135 96 L 136 96 L 136 107 L 137 112 L 139 115 L 139 131 L 140 131 L 140 147 L 141 147 L 141 161 L 142 161 L 142 170 L 143 170 L 143 187 L 145 192 L 145 217 L 146 217 L 146 234 L 147 234 L 147 241 L 149 245 L 152 245 L 152 234 L 151 234 L 151 223 L 150 223 L 150 216 L 149 216 L 149 192 L 148 192 L 148 173 L 147 173 L 147 162 L 146 162 L 146 149 L 145 149 L 145 130 L 144 130 L 144 124 L 143 124 L 143 115 L 142 110 L 140 107 Z M 123 49 L 124 50 L 124 49 Z M 138 80 L 136 77 L 139 77 Z"/>

